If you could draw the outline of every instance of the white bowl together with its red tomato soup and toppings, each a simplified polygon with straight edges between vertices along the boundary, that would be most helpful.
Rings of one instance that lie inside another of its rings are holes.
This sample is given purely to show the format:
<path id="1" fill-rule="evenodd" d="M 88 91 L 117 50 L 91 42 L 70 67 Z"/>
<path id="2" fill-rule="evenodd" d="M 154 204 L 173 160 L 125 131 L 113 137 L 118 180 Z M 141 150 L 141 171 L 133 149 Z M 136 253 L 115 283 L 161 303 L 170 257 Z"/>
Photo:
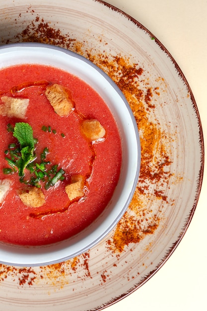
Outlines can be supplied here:
<path id="1" fill-rule="evenodd" d="M 128 208 L 137 123 L 118 86 L 78 54 L 17 43 L 1 46 L 0 60 L 0 262 L 62 262 Z"/>

